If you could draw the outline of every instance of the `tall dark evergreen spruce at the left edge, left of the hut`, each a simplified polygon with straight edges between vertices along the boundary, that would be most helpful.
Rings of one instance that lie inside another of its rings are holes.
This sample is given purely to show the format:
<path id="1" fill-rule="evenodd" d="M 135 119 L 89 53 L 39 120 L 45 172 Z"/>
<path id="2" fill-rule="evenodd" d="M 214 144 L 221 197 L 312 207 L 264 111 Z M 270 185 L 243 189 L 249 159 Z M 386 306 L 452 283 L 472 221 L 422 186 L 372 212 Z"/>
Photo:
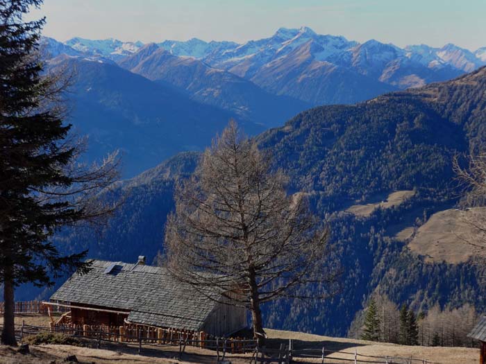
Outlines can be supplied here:
<path id="1" fill-rule="evenodd" d="M 42 76 L 44 19 L 23 15 L 42 0 L 0 0 L 0 284 L 5 302 L 1 343 L 16 345 L 15 286 L 38 286 L 69 270 L 85 272 L 85 252 L 62 256 L 49 236 L 65 224 L 106 216 L 97 193 L 117 177 L 117 158 L 76 163 L 84 146 L 62 121 L 62 78 Z"/>

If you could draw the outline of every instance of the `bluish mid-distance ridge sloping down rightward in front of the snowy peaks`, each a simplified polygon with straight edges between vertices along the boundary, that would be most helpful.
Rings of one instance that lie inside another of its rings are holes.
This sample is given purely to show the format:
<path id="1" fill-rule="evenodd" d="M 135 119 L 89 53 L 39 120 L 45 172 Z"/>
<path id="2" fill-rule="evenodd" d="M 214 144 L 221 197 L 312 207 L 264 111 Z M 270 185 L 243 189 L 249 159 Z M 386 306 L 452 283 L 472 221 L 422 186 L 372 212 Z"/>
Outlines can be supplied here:
<path id="1" fill-rule="evenodd" d="M 267 127 L 280 126 L 311 107 L 297 98 L 266 92 L 250 80 L 210 67 L 202 60 L 172 55 L 156 44 L 146 44 L 118 64 L 149 80 L 177 87 L 195 101 Z"/>

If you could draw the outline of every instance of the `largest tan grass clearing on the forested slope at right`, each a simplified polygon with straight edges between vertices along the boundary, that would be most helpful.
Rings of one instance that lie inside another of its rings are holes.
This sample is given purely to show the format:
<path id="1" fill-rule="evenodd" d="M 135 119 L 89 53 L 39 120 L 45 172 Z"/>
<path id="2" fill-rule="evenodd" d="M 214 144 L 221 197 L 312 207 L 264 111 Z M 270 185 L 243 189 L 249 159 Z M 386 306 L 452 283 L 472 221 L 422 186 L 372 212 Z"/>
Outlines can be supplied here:
<path id="1" fill-rule="evenodd" d="M 408 244 L 412 252 L 426 257 L 426 261 L 446 261 L 462 263 L 474 254 L 484 254 L 478 248 L 468 244 L 471 226 L 464 222 L 468 214 L 484 210 L 475 208 L 467 211 L 448 209 L 433 214 L 427 223 L 419 227 L 414 238 Z"/>

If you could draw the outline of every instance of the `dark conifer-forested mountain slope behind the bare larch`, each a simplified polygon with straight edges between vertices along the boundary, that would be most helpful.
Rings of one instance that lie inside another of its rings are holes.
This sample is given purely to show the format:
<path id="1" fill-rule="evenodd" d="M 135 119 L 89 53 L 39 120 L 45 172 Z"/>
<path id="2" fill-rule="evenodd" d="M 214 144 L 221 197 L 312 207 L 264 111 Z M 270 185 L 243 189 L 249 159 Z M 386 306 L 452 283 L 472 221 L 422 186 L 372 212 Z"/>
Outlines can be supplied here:
<path id="1" fill-rule="evenodd" d="M 481 266 L 426 260 L 400 234 L 458 202 L 452 157 L 486 145 L 485 90 L 483 68 L 357 105 L 317 107 L 257 137 L 290 175 L 290 193 L 307 193 L 328 223 L 333 258 L 343 268 L 338 295 L 267 305 L 268 327 L 345 335 L 374 291 L 416 311 L 465 302 L 486 309 Z M 196 158 L 178 155 L 120 184 L 107 198 L 125 195 L 126 203 L 103 235 L 65 232 L 58 239 L 69 250 L 90 248 L 91 257 L 153 259 L 163 249 L 174 181 L 192 171 Z M 364 211 L 360 205 L 367 205 L 366 213 L 355 214 Z"/>

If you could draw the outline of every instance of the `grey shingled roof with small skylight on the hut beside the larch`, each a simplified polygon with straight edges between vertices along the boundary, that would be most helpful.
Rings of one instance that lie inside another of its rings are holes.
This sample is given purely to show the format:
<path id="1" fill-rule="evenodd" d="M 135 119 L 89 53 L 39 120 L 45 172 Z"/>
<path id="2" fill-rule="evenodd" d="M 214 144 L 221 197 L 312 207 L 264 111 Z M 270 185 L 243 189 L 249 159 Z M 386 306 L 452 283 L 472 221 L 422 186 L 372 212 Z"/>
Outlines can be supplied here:
<path id="1" fill-rule="evenodd" d="M 99 260 L 86 275 L 72 275 L 51 300 L 128 310 L 134 323 L 194 331 L 216 305 L 165 268 Z"/>

